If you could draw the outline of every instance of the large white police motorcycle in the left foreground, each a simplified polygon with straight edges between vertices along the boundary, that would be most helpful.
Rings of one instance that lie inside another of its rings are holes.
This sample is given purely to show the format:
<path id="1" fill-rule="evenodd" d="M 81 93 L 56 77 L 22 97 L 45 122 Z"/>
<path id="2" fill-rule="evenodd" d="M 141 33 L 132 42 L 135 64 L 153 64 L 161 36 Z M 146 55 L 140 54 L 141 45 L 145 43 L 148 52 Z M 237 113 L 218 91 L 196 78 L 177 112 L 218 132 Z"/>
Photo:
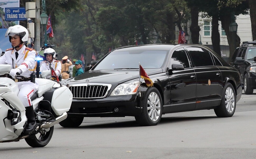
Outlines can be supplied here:
<path id="1" fill-rule="evenodd" d="M 11 66 L 0 65 L 0 75 L 10 72 Z M 43 71 L 41 76 L 50 75 Z M 16 75 L 16 77 L 21 77 Z M 53 135 L 54 125 L 67 118 L 73 95 L 70 90 L 54 80 L 35 78 L 39 84 L 31 97 L 37 128 L 30 134 L 23 133 L 26 124 L 25 107 L 18 98 L 18 85 L 8 77 L 0 77 L 0 142 L 25 139 L 31 147 L 46 146 Z"/>

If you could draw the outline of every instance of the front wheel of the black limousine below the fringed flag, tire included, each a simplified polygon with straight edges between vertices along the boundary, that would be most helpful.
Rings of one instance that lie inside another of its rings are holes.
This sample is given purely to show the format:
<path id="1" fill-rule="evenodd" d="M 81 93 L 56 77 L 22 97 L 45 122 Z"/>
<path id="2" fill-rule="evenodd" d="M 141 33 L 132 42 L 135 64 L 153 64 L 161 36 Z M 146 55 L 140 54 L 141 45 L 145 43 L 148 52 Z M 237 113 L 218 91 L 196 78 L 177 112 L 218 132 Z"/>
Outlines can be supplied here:
<path id="1" fill-rule="evenodd" d="M 141 115 L 135 116 L 136 122 L 141 126 L 157 125 L 162 117 L 163 102 L 157 88 L 150 87 L 142 99 Z"/>

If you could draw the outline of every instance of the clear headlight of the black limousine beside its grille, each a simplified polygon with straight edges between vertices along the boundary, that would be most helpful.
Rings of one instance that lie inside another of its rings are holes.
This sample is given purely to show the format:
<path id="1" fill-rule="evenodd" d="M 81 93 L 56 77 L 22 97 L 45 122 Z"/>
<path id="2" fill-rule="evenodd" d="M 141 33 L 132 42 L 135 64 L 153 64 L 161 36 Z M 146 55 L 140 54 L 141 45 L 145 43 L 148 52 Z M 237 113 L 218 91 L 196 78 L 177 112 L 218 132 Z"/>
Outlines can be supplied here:
<path id="1" fill-rule="evenodd" d="M 120 96 L 128 94 L 136 94 L 139 88 L 139 81 L 131 83 L 122 83 L 116 86 L 116 88 L 111 92 L 110 96 Z"/>

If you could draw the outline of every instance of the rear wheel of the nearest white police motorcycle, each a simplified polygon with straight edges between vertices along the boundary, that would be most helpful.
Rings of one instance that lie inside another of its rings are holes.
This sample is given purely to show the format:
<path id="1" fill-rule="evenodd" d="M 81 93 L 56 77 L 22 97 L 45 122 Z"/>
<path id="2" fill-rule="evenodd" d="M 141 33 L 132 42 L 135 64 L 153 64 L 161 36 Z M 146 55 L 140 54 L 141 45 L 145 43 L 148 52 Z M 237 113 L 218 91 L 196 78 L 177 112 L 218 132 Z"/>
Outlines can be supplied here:
<path id="1" fill-rule="evenodd" d="M 25 138 L 25 140 L 31 147 L 44 147 L 50 142 L 51 137 L 53 136 L 53 130 L 54 126 L 45 133 L 31 134 L 29 137 Z"/>

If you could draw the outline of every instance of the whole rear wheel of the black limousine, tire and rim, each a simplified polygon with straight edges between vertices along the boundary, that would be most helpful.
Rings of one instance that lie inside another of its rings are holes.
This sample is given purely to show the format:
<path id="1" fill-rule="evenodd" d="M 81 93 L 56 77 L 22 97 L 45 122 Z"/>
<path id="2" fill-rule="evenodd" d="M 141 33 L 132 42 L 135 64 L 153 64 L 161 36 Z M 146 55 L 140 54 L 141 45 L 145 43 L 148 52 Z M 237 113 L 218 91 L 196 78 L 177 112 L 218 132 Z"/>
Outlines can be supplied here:
<path id="1" fill-rule="evenodd" d="M 231 83 L 226 83 L 223 88 L 223 94 L 220 105 L 214 109 L 218 117 L 231 117 L 234 115 L 236 109 L 236 94 L 235 89 Z"/>

